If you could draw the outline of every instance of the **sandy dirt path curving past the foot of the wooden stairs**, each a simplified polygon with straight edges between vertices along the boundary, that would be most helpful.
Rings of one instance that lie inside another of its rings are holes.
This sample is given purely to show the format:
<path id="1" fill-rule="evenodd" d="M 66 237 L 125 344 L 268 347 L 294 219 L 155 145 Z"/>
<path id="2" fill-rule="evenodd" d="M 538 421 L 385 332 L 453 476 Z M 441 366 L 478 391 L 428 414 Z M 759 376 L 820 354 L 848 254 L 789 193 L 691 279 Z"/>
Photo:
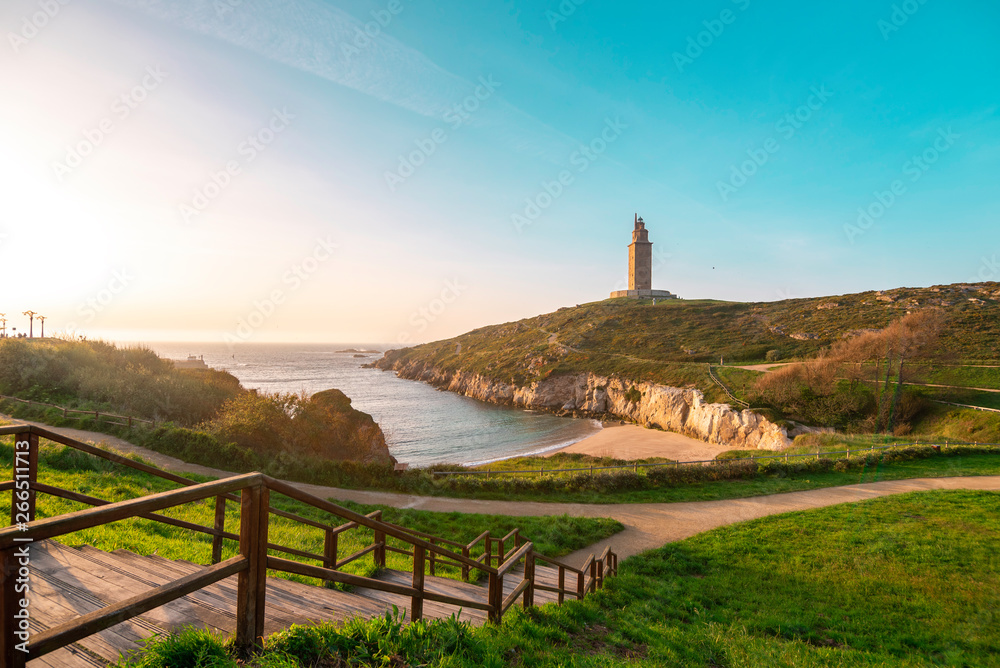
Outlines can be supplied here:
<path id="1" fill-rule="evenodd" d="M 77 440 L 90 441 L 95 444 L 103 443 L 110 449 L 119 452 L 136 454 L 156 466 L 170 469 L 177 473 L 197 473 L 213 477 L 232 475 L 227 471 L 189 464 L 174 457 L 161 455 L 128 441 L 115 438 L 114 436 L 79 429 L 49 427 L 39 423 L 30 424 L 38 424 L 40 427 Z M 747 499 L 725 499 L 721 501 L 583 504 L 541 503 L 532 501 L 481 501 L 476 499 L 452 499 L 394 494 L 391 492 L 348 490 L 305 483 L 291 484 L 304 492 L 324 499 L 331 498 L 355 501 L 357 503 L 382 504 L 396 508 L 414 508 L 436 512 L 487 513 L 514 517 L 532 515 L 611 517 L 625 525 L 624 531 L 567 556 L 567 563 L 572 565 L 582 565 L 591 553 L 600 555 L 604 548 L 609 545 L 619 556 L 630 557 L 639 552 L 660 547 L 665 543 L 690 538 L 695 534 L 717 527 L 797 510 L 823 508 L 840 503 L 863 501 L 891 494 L 933 489 L 973 489 L 1000 492 L 1000 476 L 977 476 L 890 480 Z"/>

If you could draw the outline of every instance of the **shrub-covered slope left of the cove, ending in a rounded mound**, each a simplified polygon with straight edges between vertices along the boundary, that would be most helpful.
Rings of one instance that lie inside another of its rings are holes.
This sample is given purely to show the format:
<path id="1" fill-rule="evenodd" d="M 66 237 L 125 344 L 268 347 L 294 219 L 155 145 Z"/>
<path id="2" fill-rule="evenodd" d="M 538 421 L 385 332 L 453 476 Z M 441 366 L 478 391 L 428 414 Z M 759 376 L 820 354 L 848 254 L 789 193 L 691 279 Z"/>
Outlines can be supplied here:
<path id="1" fill-rule="evenodd" d="M 96 419 L 65 420 L 58 409 L 4 404 L 19 417 L 103 429 L 208 466 L 281 470 L 326 460 L 392 463 L 382 430 L 339 390 L 312 396 L 248 391 L 228 372 L 177 369 L 142 346 L 0 339 L 0 394 L 155 420 L 162 426 L 154 430 L 120 431 Z"/>

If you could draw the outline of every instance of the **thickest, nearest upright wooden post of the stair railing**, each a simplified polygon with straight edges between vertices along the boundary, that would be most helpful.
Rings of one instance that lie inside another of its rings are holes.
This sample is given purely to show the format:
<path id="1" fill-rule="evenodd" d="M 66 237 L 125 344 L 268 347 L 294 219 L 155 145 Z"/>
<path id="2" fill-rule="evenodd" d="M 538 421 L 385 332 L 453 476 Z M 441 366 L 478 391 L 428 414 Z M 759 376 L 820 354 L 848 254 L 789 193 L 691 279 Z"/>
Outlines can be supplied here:
<path id="1" fill-rule="evenodd" d="M 240 555 L 250 564 L 240 571 L 236 589 L 236 650 L 253 653 L 264 635 L 264 595 L 267 591 L 268 490 L 263 481 L 242 490 Z"/>

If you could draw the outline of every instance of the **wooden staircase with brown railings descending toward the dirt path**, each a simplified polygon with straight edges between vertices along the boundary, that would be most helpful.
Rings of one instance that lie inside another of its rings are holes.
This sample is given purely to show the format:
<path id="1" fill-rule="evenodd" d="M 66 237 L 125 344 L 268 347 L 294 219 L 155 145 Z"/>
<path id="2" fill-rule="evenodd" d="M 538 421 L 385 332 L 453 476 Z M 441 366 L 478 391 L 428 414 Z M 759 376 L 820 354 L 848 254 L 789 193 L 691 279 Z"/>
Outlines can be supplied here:
<path id="1" fill-rule="evenodd" d="M 0 668 L 26 663 L 103 666 L 140 648 L 145 638 L 184 627 L 233 635 L 237 651 L 247 654 L 261 638 L 292 624 L 371 618 L 393 608 L 405 611 L 411 621 L 457 615 L 473 624 L 499 622 L 518 602 L 530 607 L 561 604 L 566 597 L 582 599 L 618 570 L 617 556 L 608 549 L 576 568 L 536 552 L 516 529 L 503 537 L 487 531 L 466 545 L 384 522 L 379 511 L 360 515 L 260 473 L 196 483 L 39 427 L 3 427 L 3 434 L 14 434 L 16 441 L 15 479 L 0 483 L 0 492 L 10 491 L 12 498 L 11 526 L 0 529 Z M 166 478 L 180 488 L 109 503 L 46 485 L 37 480 L 40 438 Z M 35 499 L 40 493 L 92 507 L 36 521 Z M 272 495 L 312 506 L 328 519 L 317 521 L 276 509 L 270 505 Z M 206 499 L 215 499 L 216 521 L 211 527 L 160 513 Z M 228 502 L 240 506 L 238 533 L 225 530 Z M 297 522 L 303 530 L 323 531 L 323 554 L 271 542 L 272 516 Z M 53 540 L 129 518 L 212 536 L 212 564 L 127 550 L 70 548 Z M 342 557 L 340 536 L 358 530 L 369 531 L 373 542 Z M 238 555 L 222 560 L 227 540 L 237 544 Z M 387 552 L 407 557 L 412 570 L 387 569 Z M 374 560 L 378 576 L 344 570 L 366 555 Z M 437 577 L 440 567 L 464 579 Z M 348 591 L 267 577 L 268 571 L 340 583 Z M 30 591 L 20 588 L 22 581 L 30 584 Z"/>

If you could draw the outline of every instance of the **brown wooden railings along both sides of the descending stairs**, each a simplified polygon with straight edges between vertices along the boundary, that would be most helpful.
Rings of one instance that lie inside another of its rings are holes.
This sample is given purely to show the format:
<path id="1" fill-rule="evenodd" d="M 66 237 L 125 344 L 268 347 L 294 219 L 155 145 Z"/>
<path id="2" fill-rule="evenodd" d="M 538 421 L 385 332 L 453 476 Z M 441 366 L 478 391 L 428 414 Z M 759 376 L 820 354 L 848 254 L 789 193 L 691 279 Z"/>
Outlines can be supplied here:
<path id="1" fill-rule="evenodd" d="M 582 569 L 577 569 L 538 554 L 534 544 L 525 540 L 517 529 L 502 537 L 493 537 L 489 532 L 484 532 L 471 543 L 462 544 L 384 522 L 381 519 L 381 511 L 367 515 L 356 513 L 261 473 L 248 473 L 213 482 L 197 483 L 36 426 L 3 427 L 0 428 L 0 435 L 15 436 L 13 479 L 0 483 L 0 492 L 11 492 L 12 524 L 8 528 L 0 529 L 0 574 L 3 576 L 0 585 L 0 668 L 24 666 L 31 659 L 65 647 L 232 575 L 238 576 L 236 648 L 243 654 L 249 654 L 259 645 L 264 632 L 267 569 L 408 596 L 411 620 L 423 617 L 424 601 L 436 601 L 462 608 L 483 610 L 491 622 L 499 622 L 503 614 L 519 599 L 525 607 L 533 605 L 536 589 L 555 592 L 561 604 L 566 596 L 583 598 L 588 592 L 602 586 L 604 579 L 617 573 L 618 570 L 617 556 L 610 550 L 605 550 L 600 558 L 591 555 L 587 564 Z M 38 458 L 41 438 L 170 480 L 182 487 L 112 503 L 40 483 Z M 93 507 L 35 520 L 35 504 L 39 493 L 82 502 Z M 337 524 L 324 523 L 271 507 L 272 493 L 315 508 L 330 516 Z M 178 520 L 159 512 L 211 498 L 216 499 L 215 521 L 212 527 Z M 239 533 L 225 531 L 226 504 L 229 501 L 237 501 L 240 504 Z M 314 554 L 270 542 L 268 529 L 271 515 L 324 531 L 323 554 Z M 34 636 L 30 636 L 26 628 L 22 630 L 19 626 L 18 613 L 24 604 L 22 594 L 17 591 L 16 576 L 23 565 L 21 551 L 24 546 L 35 541 L 56 538 L 128 518 L 144 518 L 211 535 L 212 565 L 196 574 L 156 587 Z M 372 531 L 374 536 L 372 544 L 341 558 L 338 554 L 339 537 L 346 531 L 362 528 Z M 224 561 L 221 559 L 224 540 L 238 543 L 238 556 Z M 473 556 L 480 544 L 482 554 Z M 270 552 L 315 560 L 318 565 L 273 556 Z M 341 570 L 345 565 L 368 554 L 373 555 L 376 567 L 385 568 L 387 552 L 412 557 L 413 575 L 410 586 L 383 582 Z M 536 562 L 550 564 L 558 569 L 557 587 L 536 583 Z M 521 563 L 524 564 L 523 573 L 515 574 L 515 567 Z M 434 575 L 437 566 L 440 565 L 461 569 L 462 576 L 466 579 L 487 578 L 488 587 L 484 600 L 446 596 L 427 590 L 424 580 L 428 568 L 430 574 Z M 575 582 L 568 581 L 568 574 L 571 576 L 569 580 L 575 579 Z M 506 577 L 520 577 L 520 580 L 513 591 L 504 596 Z"/>

